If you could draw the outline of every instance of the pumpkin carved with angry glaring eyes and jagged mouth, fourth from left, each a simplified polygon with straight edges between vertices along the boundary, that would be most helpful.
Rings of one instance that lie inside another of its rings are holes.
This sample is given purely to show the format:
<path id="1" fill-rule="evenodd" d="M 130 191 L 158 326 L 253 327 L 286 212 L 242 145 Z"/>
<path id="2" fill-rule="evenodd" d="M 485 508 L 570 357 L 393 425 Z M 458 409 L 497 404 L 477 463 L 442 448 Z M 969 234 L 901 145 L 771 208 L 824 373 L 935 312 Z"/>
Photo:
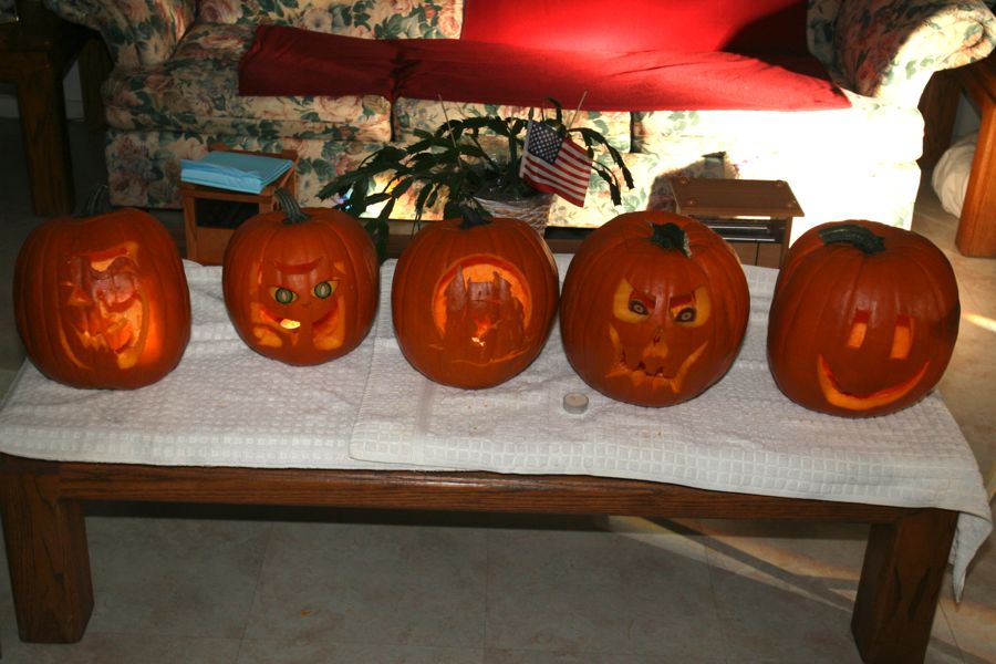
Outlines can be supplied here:
<path id="1" fill-rule="evenodd" d="M 670 406 L 729 370 L 749 312 L 729 245 L 694 219 L 647 210 L 620 215 L 582 242 L 564 277 L 560 331 L 571 366 L 591 387 Z"/>

